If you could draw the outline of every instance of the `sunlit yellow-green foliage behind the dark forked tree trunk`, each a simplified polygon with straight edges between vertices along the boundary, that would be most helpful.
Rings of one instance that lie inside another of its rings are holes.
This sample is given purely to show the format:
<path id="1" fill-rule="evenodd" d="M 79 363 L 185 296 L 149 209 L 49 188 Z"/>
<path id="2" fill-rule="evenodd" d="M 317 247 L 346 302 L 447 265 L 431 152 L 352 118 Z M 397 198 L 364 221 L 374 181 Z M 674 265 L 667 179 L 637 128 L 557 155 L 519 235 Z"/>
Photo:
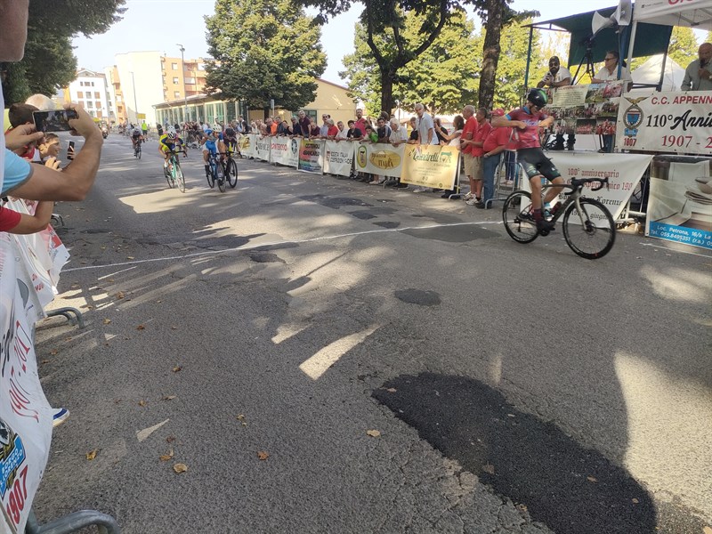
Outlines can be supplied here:
<path id="1" fill-rule="evenodd" d="M 417 38 L 422 25 L 419 19 L 414 13 L 406 15 L 403 31 L 406 40 Z M 339 75 L 349 78 L 352 95 L 366 103 L 368 114 L 377 115 L 381 110 L 381 78 L 366 40 L 366 29 L 357 26 L 355 52 L 344 57 L 346 69 Z M 480 69 L 480 58 L 473 50 L 480 49 L 481 39 L 474 33 L 473 21 L 467 20 L 464 13 L 457 13 L 418 61 L 401 69 L 392 85 L 393 99 L 407 108 L 422 101 L 438 113 L 457 112 L 465 104 L 473 103 Z"/>

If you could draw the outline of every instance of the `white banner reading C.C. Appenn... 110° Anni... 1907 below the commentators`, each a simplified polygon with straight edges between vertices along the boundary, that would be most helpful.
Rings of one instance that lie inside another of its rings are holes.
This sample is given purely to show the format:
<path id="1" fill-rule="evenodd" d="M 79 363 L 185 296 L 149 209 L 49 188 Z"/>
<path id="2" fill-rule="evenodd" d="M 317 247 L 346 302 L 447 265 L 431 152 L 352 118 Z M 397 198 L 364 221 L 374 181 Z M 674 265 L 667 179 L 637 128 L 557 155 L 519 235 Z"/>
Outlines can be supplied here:
<path id="1" fill-rule="evenodd" d="M 619 150 L 712 153 L 712 91 L 653 93 L 620 101 Z"/>

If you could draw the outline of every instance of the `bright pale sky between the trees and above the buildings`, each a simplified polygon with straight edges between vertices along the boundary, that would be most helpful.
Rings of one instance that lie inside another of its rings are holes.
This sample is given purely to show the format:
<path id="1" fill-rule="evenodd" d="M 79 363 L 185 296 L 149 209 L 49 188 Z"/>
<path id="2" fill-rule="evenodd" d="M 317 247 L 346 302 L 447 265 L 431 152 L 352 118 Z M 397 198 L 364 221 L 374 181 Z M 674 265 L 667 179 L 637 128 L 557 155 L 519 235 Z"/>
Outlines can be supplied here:
<path id="1" fill-rule="evenodd" d="M 108 32 L 91 38 L 74 39 L 78 66 L 101 71 L 114 64 L 114 54 L 155 51 L 180 57 L 182 44 L 186 59 L 207 56 L 204 16 L 214 13 L 214 0 L 127 0 L 124 19 Z M 514 0 L 518 11 L 536 10 L 551 20 L 578 12 L 594 11 L 614 6 L 615 0 Z M 344 85 L 338 76 L 344 70 L 342 58 L 353 53 L 353 28 L 362 11 L 357 4 L 349 12 L 330 20 L 321 30 L 321 44 L 328 56 L 328 66 L 322 78 Z"/>

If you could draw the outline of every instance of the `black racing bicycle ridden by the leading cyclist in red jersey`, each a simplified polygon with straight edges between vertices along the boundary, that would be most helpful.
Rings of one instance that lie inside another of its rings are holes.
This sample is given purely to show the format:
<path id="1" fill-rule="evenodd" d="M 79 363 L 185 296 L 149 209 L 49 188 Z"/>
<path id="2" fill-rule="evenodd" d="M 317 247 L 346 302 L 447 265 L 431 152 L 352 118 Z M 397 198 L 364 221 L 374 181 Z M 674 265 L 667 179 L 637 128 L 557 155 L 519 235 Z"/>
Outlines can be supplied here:
<path id="1" fill-rule="evenodd" d="M 562 219 L 563 239 L 579 256 L 595 260 L 607 255 L 616 240 L 616 224 L 606 206 L 594 198 L 583 196 L 584 186 L 588 183 L 591 191 L 608 188 L 608 176 L 605 178 L 572 178 L 569 183 L 554 185 L 547 183 L 542 187 L 546 191 L 551 187 L 565 189 L 567 198 L 553 215 L 546 218 L 549 228 L 537 230 L 531 206 L 531 193 L 524 190 L 514 191 L 505 200 L 502 219 L 506 232 L 517 243 L 530 243 L 538 236 L 546 236 L 554 229 L 554 223 Z"/>

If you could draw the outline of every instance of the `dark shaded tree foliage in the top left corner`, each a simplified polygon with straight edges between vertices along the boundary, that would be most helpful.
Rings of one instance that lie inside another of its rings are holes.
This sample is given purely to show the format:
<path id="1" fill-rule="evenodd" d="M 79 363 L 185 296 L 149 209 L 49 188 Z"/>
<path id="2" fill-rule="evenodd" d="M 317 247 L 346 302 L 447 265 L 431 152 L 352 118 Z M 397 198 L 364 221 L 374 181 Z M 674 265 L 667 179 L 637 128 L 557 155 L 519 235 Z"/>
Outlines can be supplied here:
<path id="1" fill-rule="evenodd" d="M 32 93 L 53 94 L 77 77 L 72 36 L 105 32 L 121 20 L 125 0 L 31 0 L 25 57 L 8 69 L 5 98 L 24 101 Z"/>

